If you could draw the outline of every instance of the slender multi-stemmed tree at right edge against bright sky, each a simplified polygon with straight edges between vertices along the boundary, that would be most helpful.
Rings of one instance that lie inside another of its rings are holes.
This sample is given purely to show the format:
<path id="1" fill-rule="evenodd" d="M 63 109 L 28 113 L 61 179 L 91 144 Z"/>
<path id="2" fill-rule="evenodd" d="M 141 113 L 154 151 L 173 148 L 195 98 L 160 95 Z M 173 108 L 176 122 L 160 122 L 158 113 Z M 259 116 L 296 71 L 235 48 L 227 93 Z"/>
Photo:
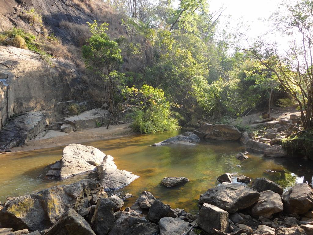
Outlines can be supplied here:
<path id="1" fill-rule="evenodd" d="M 313 119 L 313 1 L 285 5 L 288 13 L 276 14 L 274 22 L 293 42 L 284 55 L 276 44 L 258 41 L 247 49 L 262 65 L 273 72 L 281 86 L 298 102 L 303 127 L 311 129 Z M 298 36 L 300 35 L 300 37 Z"/>

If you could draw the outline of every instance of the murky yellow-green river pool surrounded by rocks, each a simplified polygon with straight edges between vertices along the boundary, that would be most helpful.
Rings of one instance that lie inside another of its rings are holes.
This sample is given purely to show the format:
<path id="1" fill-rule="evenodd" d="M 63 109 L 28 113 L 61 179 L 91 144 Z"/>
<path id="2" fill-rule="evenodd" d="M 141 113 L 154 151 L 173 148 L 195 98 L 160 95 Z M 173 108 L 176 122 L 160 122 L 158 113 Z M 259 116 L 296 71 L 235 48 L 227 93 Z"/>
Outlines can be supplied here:
<path id="1" fill-rule="evenodd" d="M 135 197 L 130 198 L 128 203 L 126 201 L 127 206 L 145 190 L 164 203 L 169 203 L 172 208 L 196 212 L 199 195 L 217 185 L 217 177 L 227 172 L 243 174 L 252 180 L 266 177 L 283 187 L 290 187 L 296 182 L 311 182 L 313 164 L 310 161 L 272 159 L 264 158 L 261 154 L 249 154 L 249 159 L 241 162 L 235 155 L 244 149 L 237 142 L 208 140 L 196 145 L 150 146 L 178 132 L 133 135 L 84 144 L 112 155 L 118 169 L 132 171 L 140 176 L 127 187 L 110 192 L 118 195 L 133 194 Z M 62 149 L 56 147 L 1 155 L 0 201 L 5 201 L 7 196 L 26 195 L 53 185 L 69 184 L 84 178 L 96 179 L 96 173 L 62 181 L 45 179 L 48 165 L 62 157 Z M 267 173 L 265 170 L 273 170 L 275 173 Z M 167 176 L 187 177 L 190 182 L 176 188 L 166 188 L 160 181 Z"/>

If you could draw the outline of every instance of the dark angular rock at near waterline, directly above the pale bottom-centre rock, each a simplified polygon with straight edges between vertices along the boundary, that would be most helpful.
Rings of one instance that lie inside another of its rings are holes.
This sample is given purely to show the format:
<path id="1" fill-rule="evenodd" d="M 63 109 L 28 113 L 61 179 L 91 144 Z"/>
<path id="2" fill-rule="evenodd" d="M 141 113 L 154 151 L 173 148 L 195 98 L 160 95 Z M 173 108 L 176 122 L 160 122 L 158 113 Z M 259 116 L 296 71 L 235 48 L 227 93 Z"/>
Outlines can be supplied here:
<path id="1" fill-rule="evenodd" d="M 155 200 L 149 209 L 147 219 L 151 222 L 158 222 L 163 217 L 176 218 L 177 216 L 170 205 L 165 205 L 162 201 Z"/>

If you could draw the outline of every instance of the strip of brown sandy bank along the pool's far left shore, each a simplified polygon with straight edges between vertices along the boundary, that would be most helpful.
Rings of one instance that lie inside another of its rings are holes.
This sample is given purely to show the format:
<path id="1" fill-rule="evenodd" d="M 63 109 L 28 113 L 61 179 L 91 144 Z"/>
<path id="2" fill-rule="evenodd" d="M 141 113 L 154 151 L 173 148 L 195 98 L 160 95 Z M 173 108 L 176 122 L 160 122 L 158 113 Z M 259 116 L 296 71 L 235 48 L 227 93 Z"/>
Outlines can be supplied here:
<path id="1" fill-rule="evenodd" d="M 14 147 L 11 153 L 16 151 L 29 151 L 33 149 L 52 148 L 66 144 L 78 144 L 93 140 L 110 139 L 134 134 L 129 127 L 130 123 L 112 125 L 109 129 L 106 127 L 92 128 L 83 131 L 76 131 L 65 136 L 57 136 L 41 140 L 28 141 L 23 146 Z M 10 153 L 8 153 L 10 154 Z"/>

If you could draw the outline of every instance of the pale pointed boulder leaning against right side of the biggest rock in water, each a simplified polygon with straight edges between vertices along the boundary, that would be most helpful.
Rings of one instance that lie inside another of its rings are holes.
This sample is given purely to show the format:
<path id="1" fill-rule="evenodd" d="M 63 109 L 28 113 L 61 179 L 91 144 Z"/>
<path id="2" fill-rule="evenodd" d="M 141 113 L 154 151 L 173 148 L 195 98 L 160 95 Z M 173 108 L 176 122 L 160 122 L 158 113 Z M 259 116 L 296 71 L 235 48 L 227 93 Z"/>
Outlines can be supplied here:
<path id="1" fill-rule="evenodd" d="M 100 184 L 104 191 L 123 188 L 139 178 L 138 175 L 131 174 L 129 171 L 116 168 L 113 157 L 110 155 L 106 155 L 104 161 L 97 166 Z"/>

